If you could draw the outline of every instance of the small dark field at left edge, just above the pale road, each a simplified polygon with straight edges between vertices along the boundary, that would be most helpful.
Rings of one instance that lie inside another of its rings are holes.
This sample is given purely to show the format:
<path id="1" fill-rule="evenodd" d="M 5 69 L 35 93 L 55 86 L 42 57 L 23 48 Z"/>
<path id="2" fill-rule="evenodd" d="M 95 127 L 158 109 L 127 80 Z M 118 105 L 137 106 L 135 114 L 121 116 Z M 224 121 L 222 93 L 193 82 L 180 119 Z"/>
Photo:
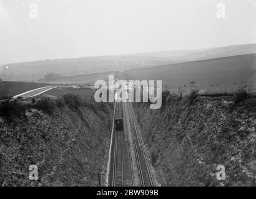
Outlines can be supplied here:
<path id="1" fill-rule="evenodd" d="M 36 88 L 51 86 L 47 83 L 2 81 L 0 83 L 0 98 L 3 96 L 14 96 Z"/>

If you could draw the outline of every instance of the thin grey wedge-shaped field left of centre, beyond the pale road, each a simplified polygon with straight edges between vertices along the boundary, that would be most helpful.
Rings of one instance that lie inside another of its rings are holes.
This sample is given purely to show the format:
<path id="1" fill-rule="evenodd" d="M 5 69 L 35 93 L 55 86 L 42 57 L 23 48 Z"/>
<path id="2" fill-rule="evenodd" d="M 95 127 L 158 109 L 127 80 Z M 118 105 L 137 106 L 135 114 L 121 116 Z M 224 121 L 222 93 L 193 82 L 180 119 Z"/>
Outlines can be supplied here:
<path id="1" fill-rule="evenodd" d="M 89 75 L 78 75 L 78 76 L 67 76 L 64 78 L 57 78 L 47 83 L 57 83 L 57 84 L 78 84 L 78 85 L 94 85 L 97 80 L 107 81 L 109 75 L 116 75 L 116 72 L 106 72 L 106 73 L 94 73 Z"/>

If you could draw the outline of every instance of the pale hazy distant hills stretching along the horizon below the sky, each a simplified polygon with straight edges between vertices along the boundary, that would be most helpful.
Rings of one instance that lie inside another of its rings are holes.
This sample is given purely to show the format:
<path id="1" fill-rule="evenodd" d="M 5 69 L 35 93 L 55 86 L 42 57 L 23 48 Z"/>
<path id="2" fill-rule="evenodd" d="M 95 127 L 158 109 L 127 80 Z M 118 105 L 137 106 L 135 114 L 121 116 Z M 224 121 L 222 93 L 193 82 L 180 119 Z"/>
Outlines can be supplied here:
<path id="1" fill-rule="evenodd" d="M 63 58 L 39 60 L 0 65 L 0 78 L 4 81 L 43 80 L 46 73 L 62 76 L 126 70 L 132 68 L 155 67 L 171 63 L 192 62 L 210 58 L 229 57 L 256 53 L 256 44 L 232 45 L 197 50 L 168 50 L 127 55 Z"/>

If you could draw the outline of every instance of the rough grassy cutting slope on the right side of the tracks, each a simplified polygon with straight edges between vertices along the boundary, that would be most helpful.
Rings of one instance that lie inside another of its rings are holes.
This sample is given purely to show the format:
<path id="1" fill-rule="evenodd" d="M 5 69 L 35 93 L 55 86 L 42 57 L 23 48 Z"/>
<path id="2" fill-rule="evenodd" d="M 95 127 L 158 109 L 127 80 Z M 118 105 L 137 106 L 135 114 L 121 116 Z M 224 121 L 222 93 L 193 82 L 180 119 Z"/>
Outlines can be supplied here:
<path id="1" fill-rule="evenodd" d="M 159 110 L 135 104 L 144 141 L 163 186 L 255 185 L 256 103 L 232 97 L 170 98 Z M 224 165 L 226 179 L 216 178 Z"/>

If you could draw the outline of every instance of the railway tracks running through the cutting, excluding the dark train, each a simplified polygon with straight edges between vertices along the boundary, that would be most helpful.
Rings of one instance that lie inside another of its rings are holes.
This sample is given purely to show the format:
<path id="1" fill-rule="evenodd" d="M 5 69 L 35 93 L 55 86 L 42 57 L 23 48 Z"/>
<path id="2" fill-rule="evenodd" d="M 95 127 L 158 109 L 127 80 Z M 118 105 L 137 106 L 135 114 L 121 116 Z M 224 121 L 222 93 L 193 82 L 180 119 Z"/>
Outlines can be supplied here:
<path id="1" fill-rule="evenodd" d="M 116 118 L 124 120 L 124 128 L 116 129 L 112 141 L 112 172 L 109 185 L 154 186 L 145 148 L 130 103 L 116 103 Z"/>

